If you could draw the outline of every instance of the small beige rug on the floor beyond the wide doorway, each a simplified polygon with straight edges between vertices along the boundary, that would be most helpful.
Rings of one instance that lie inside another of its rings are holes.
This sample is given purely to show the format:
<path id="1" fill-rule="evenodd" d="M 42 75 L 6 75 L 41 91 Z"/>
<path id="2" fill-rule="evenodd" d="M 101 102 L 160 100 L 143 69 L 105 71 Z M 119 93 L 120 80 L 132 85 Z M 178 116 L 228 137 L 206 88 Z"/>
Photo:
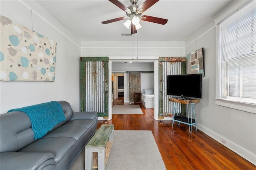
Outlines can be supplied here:
<path id="1" fill-rule="evenodd" d="M 143 114 L 139 105 L 114 105 L 112 114 Z"/>

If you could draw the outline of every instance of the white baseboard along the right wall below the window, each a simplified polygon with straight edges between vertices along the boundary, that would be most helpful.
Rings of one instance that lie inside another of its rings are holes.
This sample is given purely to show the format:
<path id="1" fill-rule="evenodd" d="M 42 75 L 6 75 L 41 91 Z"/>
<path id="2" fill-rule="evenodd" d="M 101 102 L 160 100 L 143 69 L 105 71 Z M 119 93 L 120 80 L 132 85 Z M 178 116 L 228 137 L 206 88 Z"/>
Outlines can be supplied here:
<path id="1" fill-rule="evenodd" d="M 199 130 L 201 130 L 202 132 L 204 132 L 205 134 L 207 134 L 208 136 L 210 136 L 211 138 L 213 138 L 214 140 L 218 141 L 220 144 L 226 146 L 227 148 L 229 148 L 236 154 L 242 156 L 244 159 L 248 160 L 249 162 L 251 162 L 252 164 L 254 164 L 256 166 L 256 159 L 255 159 L 256 154 L 246 150 L 245 148 L 242 148 L 241 146 L 235 144 L 234 142 L 224 138 L 220 134 L 217 134 L 216 132 L 213 132 L 212 130 L 210 130 L 198 123 L 197 123 L 197 128 Z M 224 144 L 223 140 L 225 140 L 227 142 L 227 144 Z"/>

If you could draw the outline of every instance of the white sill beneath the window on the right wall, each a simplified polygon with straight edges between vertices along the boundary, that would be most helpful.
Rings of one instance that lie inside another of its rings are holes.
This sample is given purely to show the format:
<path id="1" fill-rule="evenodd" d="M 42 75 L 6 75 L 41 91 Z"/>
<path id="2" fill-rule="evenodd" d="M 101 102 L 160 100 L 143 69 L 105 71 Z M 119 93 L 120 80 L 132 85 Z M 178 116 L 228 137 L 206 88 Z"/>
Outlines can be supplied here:
<path id="1" fill-rule="evenodd" d="M 256 105 L 254 104 L 230 101 L 227 99 L 219 99 L 219 98 L 214 98 L 214 100 L 216 105 L 256 114 Z"/>

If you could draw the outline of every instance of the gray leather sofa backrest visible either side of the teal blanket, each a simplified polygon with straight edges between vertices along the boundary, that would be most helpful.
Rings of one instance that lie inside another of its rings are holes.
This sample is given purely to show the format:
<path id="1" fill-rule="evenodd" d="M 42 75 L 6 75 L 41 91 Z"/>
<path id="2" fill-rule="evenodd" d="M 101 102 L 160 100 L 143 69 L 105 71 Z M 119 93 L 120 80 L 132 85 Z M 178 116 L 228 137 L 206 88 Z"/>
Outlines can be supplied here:
<path id="1" fill-rule="evenodd" d="M 66 120 L 58 123 L 52 130 L 69 121 L 73 115 L 68 102 L 58 102 L 62 106 Z M 34 141 L 34 131 L 26 113 L 13 111 L 0 115 L 0 152 L 16 152 Z"/>

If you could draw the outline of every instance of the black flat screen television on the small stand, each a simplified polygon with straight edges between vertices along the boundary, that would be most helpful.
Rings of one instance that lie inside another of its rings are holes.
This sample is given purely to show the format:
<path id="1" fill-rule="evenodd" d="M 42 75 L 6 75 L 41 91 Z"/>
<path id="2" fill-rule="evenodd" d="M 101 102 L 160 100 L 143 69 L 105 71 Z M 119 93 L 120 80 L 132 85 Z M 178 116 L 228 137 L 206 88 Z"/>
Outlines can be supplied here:
<path id="1" fill-rule="evenodd" d="M 202 74 L 167 75 L 167 95 L 202 98 Z"/>

